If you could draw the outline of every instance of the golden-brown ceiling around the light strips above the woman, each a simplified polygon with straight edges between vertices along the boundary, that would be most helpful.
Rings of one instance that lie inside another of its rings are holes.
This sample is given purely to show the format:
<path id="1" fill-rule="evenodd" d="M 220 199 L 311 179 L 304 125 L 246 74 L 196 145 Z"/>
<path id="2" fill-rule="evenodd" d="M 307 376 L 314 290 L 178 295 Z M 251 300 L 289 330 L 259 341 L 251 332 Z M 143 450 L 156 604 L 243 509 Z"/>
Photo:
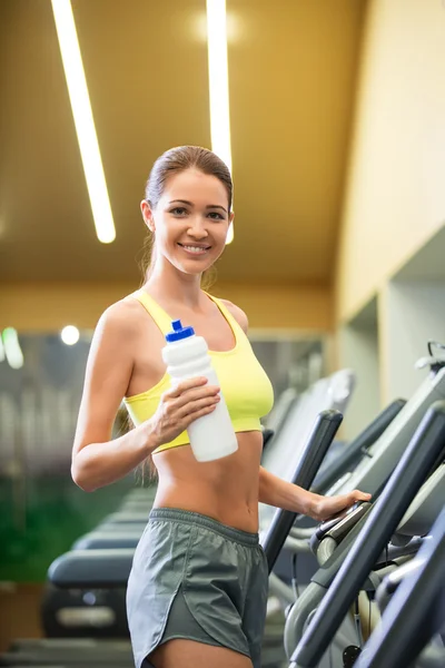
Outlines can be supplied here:
<path id="1" fill-rule="evenodd" d="M 117 228 L 97 240 L 50 0 L 0 0 L 0 279 L 139 282 L 139 202 L 171 146 L 210 147 L 205 0 L 72 0 Z M 327 284 L 365 0 L 227 0 L 231 282 Z"/>

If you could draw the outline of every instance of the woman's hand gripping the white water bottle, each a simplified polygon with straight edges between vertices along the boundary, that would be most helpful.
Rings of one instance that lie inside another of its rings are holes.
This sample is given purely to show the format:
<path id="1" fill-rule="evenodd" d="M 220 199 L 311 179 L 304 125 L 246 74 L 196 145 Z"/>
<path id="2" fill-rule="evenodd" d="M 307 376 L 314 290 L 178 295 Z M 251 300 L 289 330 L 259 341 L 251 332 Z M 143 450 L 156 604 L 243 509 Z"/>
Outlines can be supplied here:
<path id="1" fill-rule="evenodd" d="M 208 385 L 206 377 L 189 379 L 164 392 L 155 415 L 150 419 L 155 449 L 170 443 L 188 425 L 215 411 L 220 389 Z"/>

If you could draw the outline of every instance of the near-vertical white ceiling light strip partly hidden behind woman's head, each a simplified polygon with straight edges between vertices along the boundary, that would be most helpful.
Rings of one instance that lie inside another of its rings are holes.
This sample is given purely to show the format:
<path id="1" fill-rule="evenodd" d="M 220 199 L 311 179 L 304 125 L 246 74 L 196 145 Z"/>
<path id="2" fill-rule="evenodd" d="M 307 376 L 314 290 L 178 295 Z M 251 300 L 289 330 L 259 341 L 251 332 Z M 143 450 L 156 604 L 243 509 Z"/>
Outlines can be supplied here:
<path id="1" fill-rule="evenodd" d="M 231 174 L 226 0 L 207 0 L 207 48 L 211 150 L 226 163 Z M 226 244 L 233 240 L 231 224 Z"/>

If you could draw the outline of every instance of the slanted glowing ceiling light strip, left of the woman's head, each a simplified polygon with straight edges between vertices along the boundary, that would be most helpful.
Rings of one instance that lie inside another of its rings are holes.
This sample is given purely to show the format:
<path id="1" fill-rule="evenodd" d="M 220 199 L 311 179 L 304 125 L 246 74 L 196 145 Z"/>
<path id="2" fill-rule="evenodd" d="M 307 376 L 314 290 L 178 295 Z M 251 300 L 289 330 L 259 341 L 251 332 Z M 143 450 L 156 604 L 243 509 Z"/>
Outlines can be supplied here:
<path id="1" fill-rule="evenodd" d="M 99 242 L 109 244 L 116 238 L 116 229 L 88 96 L 87 80 L 85 78 L 82 57 L 77 39 L 71 2 L 70 0 L 51 1 L 65 76 L 67 78 L 68 92 L 75 118 L 76 132 L 90 196 L 96 234 Z"/>

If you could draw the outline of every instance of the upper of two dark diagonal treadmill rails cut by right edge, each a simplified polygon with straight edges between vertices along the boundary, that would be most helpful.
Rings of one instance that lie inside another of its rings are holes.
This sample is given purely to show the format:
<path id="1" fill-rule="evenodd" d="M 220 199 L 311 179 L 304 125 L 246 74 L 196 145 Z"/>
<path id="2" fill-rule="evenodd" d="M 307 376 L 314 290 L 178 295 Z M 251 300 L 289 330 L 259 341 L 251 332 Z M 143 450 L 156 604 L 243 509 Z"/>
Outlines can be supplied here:
<path id="1" fill-rule="evenodd" d="M 445 401 L 424 415 L 368 520 L 295 649 L 291 668 L 315 668 L 345 618 L 357 591 L 388 543 L 406 508 L 445 443 Z"/>

